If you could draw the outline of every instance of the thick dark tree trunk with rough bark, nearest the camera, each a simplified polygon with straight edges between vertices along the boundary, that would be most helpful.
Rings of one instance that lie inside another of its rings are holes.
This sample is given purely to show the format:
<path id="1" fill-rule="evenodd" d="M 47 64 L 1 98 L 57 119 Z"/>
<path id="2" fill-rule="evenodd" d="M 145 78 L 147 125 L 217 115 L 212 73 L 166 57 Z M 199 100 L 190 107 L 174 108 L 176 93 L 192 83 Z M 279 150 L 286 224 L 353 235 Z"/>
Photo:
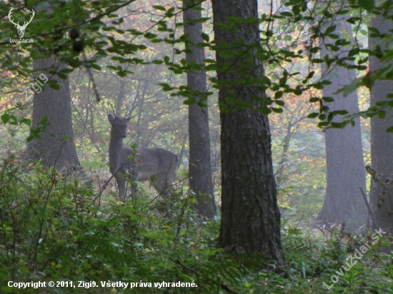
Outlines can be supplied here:
<path id="1" fill-rule="evenodd" d="M 264 68 L 257 58 L 259 24 L 244 19 L 258 16 L 257 1 L 213 0 L 212 4 L 222 126 L 218 246 L 284 262 L 269 121 L 253 109 L 263 105 Z M 245 103 L 247 108 L 242 108 Z"/>

